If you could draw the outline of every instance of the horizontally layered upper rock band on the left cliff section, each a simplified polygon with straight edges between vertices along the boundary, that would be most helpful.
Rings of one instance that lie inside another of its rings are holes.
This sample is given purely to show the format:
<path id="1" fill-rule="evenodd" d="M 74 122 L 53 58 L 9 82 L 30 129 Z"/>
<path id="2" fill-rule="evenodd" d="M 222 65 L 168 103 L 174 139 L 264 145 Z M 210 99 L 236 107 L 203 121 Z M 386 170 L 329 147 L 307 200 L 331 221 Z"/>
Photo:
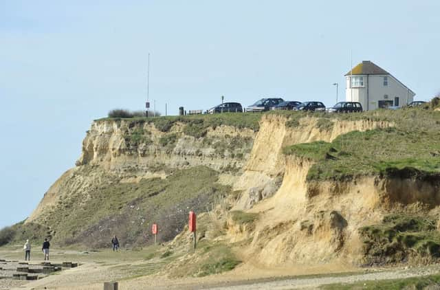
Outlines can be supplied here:
<path id="1" fill-rule="evenodd" d="M 77 164 L 99 165 L 109 170 L 126 166 L 240 170 L 245 164 L 254 140 L 252 129 L 218 126 L 197 138 L 186 135 L 184 126 L 177 123 L 162 132 L 148 122 L 94 122 L 87 131 Z"/>

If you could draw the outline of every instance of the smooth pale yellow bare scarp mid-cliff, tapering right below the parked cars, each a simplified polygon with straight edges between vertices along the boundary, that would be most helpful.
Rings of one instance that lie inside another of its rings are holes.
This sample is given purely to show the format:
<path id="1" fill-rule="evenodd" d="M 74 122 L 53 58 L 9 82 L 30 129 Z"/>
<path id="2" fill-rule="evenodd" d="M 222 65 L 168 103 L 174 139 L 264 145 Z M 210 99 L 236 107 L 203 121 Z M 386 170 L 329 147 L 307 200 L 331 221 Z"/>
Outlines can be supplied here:
<path id="1" fill-rule="evenodd" d="M 261 120 L 249 161 L 243 175 L 234 184 L 234 190 L 245 192 L 234 209 L 251 208 L 256 201 L 269 197 L 278 190 L 288 168 L 282 150 L 285 146 L 315 141 L 331 142 L 339 135 L 351 131 L 393 126 L 389 122 L 372 120 L 330 120 L 331 126 L 322 129 L 317 124 L 318 118 L 302 118 L 295 126 L 287 126 L 287 121 L 283 115 L 265 115 Z M 263 194 L 264 192 L 266 193 Z"/>

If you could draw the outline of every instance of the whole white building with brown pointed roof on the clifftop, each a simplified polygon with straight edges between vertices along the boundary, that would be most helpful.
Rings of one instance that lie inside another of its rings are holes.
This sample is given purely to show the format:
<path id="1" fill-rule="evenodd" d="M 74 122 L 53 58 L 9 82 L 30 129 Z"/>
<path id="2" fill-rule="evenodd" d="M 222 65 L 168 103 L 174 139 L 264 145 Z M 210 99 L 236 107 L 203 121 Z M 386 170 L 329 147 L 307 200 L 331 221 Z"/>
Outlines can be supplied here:
<path id="1" fill-rule="evenodd" d="M 415 93 L 381 67 L 364 60 L 346 75 L 347 102 L 360 102 L 364 111 L 391 106 L 403 107 Z"/>

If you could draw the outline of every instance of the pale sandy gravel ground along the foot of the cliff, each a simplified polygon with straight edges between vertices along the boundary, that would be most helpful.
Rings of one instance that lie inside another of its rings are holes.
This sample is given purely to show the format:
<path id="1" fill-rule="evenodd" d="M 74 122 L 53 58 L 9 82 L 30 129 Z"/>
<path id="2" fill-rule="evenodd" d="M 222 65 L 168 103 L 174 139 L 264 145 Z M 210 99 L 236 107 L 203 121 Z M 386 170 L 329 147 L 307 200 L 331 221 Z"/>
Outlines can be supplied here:
<path id="1" fill-rule="evenodd" d="M 0 256 L 2 255 L 10 258 L 19 258 L 21 252 L 0 252 Z M 3 285 L 3 289 L 17 287 L 15 289 L 20 290 L 102 290 L 103 282 L 112 280 L 119 282 L 119 289 L 121 290 L 316 289 L 322 285 L 334 283 L 403 279 L 440 273 L 440 265 L 360 269 L 353 267 L 353 265 L 337 263 L 267 269 L 261 265 L 246 263 L 224 274 L 203 278 L 173 280 L 166 278 L 166 273 L 161 273 L 161 267 L 164 263 L 161 259 L 139 260 L 139 253 L 136 252 L 113 253 L 103 251 L 85 254 L 85 252 L 75 251 L 54 251 L 54 258 L 60 262 L 63 260 L 78 261 L 82 265 L 74 269 L 63 270 L 59 274 L 50 275 L 47 278 L 29 282 L 25 285 L 21 285 L 21 283 L 15 284 L 14 281 L 10 281 L 13 284 Z"/>

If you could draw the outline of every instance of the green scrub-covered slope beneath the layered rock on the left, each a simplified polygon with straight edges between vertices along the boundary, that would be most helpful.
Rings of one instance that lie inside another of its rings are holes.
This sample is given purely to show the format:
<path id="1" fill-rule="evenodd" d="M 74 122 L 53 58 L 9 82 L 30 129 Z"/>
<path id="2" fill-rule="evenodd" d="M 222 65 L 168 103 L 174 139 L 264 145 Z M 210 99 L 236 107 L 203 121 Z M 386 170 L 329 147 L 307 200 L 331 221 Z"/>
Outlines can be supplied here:
<path id="1" fill-rule="evenodd" d="M 84 166 L 74 178 L 82 180 L 90 170 L 97 174 L 99 168 Z M 169 172 L 166 179 L 121 182 L 102 171 L 93 188 L 60 199 L 39 222 L 52 226 L 61 245 L 107 247 L 113 234 L 126 247 L 151 244 L 153 223 L 159 225 L 158 241 L 170 241 L 186 225 L 189 210 L 206 211 L 230 188 L 216 183 L 218 172 L 203 166 Z"/>

